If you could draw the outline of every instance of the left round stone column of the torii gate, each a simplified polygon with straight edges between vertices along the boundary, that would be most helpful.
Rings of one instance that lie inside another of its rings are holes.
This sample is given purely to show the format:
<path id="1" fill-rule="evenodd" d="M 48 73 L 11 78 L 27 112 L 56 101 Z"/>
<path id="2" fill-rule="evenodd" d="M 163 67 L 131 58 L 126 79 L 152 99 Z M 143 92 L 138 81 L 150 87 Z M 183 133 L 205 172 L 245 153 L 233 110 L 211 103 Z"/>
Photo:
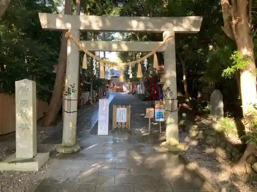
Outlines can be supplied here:
<path id="1" fill-rule="evenodd" d="M 72 36 L 80 38 L 79 30 L 71 30 Z M 74 153 L 80 150 L 76 144 L 78 84 L 79 84 L 79 49 L 74 42 L 68 40 L 65 91 L 74 86 L 74 91 L 65 95 L 62 146 L 57 147 L 59 153 Z"/>

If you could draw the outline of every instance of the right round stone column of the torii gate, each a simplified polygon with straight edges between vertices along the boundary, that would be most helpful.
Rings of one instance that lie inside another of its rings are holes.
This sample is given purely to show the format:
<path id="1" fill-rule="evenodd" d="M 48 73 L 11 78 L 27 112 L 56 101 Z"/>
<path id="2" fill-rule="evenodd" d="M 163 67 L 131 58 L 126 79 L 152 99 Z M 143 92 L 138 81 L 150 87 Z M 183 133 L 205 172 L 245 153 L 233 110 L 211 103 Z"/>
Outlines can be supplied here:
<path id="1" fill-rule="evenodd" d="M 164 98 L 165 117 L 166 117 L 166 142 L 164 146 L 169 151 L 177 151 L 179 144 L 178 140 L 178 111 L 177 111 L 177 81 L 176 81 L 176 52 L 175 52 L 175 33 L 170 31 L 163 32 L 163 40 L 166 40 L 170 35 L 170 39 L 164 51 Z"/>

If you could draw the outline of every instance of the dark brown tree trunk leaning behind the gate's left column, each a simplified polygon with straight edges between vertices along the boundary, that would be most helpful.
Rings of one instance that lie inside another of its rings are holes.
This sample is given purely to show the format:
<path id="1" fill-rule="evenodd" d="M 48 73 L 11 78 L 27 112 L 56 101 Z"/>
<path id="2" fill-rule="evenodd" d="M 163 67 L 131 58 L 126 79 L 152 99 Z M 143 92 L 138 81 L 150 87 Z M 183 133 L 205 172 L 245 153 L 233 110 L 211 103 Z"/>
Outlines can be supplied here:
<path id="1" fill-rule="evenodd" d="M 72 1 L 65 0 L 64 14 L 71 15 L 72 10 Z M 61 49 L 58 59 L 58 67 L 56 73 L 56 80 L 54 82 L 52 97 L 49 104 L 49 111 L 47 112 L 43 124 L 44 126 L 52 125 L 56 122 L 58 113 L 62 105 L 62 92 L 63 92 L 63 83 L 66 70 L 66 61 L 67 61 L 67 38 L 65 37 L 66 31 L 63 31 Z"/>

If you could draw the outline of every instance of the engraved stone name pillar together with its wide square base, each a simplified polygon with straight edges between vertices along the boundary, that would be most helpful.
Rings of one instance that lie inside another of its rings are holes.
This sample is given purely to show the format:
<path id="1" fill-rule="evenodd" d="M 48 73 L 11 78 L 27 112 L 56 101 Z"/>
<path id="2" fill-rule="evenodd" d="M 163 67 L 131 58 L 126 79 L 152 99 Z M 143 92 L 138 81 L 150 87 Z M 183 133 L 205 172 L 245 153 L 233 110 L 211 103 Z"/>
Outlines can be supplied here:
<path id="1" fill-rule="evenodd" d="M 49 152 L 36 153 L 36 82 L 15 81 L 16 153 L 0 162 L 0 170 L 38 172 Z"/>

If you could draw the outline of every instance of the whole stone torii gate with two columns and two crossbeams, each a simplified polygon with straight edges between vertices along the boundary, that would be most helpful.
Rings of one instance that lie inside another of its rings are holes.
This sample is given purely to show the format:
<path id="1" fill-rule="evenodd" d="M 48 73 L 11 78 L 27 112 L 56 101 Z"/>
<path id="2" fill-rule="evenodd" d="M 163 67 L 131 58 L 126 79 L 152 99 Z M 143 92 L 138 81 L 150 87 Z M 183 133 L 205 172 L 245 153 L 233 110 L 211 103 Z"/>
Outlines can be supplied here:
<path id="1" fill-rule="evenodd" d="M 172 100 L 177 99 L 175 33 L 197 33 L 200 30 L 202 17 L 117 17 L 117 16 L 85 16 L 39 13 L 43 29 L 70 30 L 72 36 L 80 39 L 80 31 L 115 31 L 115 32 L 152 32 L 163 33 L 165 40 L 172 39 L 159 51 L 164 51 L 164 79 L 170 91 L 166 93 L 165 108 L 171 109 Z M 141 51 L 150 52 L 160 42 L 114 42 L 114 41 L 82 41 L 88 51 Z M 75 93 L 71 94 L 70 110 L 64 113 L 63 141 L 57 148 L 59 153 L 74 153 L 80 150 L 76 144 L 77 100 L 79 79 L 79 49 L 74 42 L 68 40 L 67 68 L 65 90 L 75 83 Z M 172 94 L 174 93 L 174 94 Z M 66 106 L 65 106 L 66 108 Z M 166 142 L 161 146 L 167 150 L 181 150 L 178 141 L 177 102 L 173 103 L 173 113 L 167 110 Z"/>

